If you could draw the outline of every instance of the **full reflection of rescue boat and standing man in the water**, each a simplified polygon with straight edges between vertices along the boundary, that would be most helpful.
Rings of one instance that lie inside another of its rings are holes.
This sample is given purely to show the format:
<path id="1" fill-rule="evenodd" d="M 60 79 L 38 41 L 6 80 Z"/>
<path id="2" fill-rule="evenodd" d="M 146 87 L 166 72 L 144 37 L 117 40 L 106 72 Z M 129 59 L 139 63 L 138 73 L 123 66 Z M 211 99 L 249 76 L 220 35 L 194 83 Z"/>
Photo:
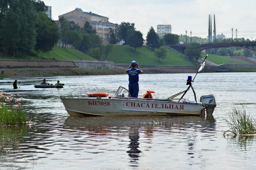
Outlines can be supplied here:
<path id="1" fill-rule="evenodd" d="M 130 157 L 131 167 L 139 165 L 139 158 L 144 155 L 142 152 L 150 151 L 151 145 L 155 145 L 152 144 L 152 139 L 161 134 L 170 136 L 166 140 L 171 140 L 169 139 L 171 136 L 176 138 L 177 135 L 177 140 L 180 142 L 183 141 L 183 135 L 185 135 L 188 159 L 194 158 L 194 146 L 199 142 L 197 132 L 203 133 L 204 138 L 216 135 L 216 121 L 213 116 L 68 117 L 64 126 L 72 131 L 79 130 L 80 134 L 90 134 L 94 138 L 102 135 L 105 138 L 110 135 L 112 138 L 119 138 L 121 135 L 124 138 L 122 141 L 128 143 L 129 150 L 126 150 L 126 153 Z M 171 144 L 171 141 L 161 141 L 163 139 L 161 138 L 155 140 Z M 141 142 L 148 146 L 140 148 Z M 172 145 L 175 144 L 172 143 Z"/>

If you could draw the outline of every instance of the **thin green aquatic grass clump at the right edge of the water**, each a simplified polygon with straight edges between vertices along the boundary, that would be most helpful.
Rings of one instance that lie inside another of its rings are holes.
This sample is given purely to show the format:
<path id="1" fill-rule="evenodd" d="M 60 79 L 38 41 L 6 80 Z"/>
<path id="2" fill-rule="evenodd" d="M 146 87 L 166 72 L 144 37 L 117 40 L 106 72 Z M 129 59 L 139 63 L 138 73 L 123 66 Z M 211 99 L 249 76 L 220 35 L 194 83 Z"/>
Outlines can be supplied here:
<path id="1" fill-rule="evenodd" d="M 256 133 L 256 121 L 250 115 L 246 115 L 246 111 L 234 109 L 229 112 L 230 121 L 226 120 L 229 125 L 229 130 L 236 137 L 237 135 L 251 135 Z M 224 135 L 225 135 L 224 133 Z"/>

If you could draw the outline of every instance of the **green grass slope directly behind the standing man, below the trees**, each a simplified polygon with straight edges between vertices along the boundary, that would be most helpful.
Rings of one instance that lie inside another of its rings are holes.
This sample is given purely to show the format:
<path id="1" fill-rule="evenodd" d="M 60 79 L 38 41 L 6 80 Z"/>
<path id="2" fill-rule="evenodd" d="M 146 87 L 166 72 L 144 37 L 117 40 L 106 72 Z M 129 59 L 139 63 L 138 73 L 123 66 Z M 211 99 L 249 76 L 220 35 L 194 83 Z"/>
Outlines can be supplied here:
<path id="1" fill-rule="evenodd" d="M 114 63 L 130 63 L 131 61 L 135 60 L 141 65 L 195 65 L 194 63 L 182 58 L 180 54 L 174 52 L 173 50 L 168 48 L 166 49 L 167 57 L 160 59 L 159 61 L 159 59 L 155 56 L 154 50 L 148 48 L 147 46 L 142 46 L 141 48 L 134 50 L 134 48 L 128 45 L 115 45 L 105 60 L 113 61 Z"/>

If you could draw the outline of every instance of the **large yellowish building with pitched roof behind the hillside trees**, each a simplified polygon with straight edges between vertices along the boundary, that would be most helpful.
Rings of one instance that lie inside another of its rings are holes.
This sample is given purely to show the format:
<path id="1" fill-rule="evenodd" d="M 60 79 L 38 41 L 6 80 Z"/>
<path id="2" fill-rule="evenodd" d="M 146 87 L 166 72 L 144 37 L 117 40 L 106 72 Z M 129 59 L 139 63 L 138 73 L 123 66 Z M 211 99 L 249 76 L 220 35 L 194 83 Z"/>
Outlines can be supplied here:
<path id="1" fill-rule="evenodd" d="M 110 28 L 114 31 L 117 28 L 117 24 L 110 23 L 108 17 L 94 14 L 92 12 L 84 12 L 81 8 L 76 8 L 73 11 L 60 15 L 59 18 L 62 16 L 69 20 L 69 22 L 78 24 L 81 29 L 84 29 L 86 21 L 89 22 L 92 28 L 96 30 L 97 35 L 102 37 L 104 45 L 109 44 Z"/>

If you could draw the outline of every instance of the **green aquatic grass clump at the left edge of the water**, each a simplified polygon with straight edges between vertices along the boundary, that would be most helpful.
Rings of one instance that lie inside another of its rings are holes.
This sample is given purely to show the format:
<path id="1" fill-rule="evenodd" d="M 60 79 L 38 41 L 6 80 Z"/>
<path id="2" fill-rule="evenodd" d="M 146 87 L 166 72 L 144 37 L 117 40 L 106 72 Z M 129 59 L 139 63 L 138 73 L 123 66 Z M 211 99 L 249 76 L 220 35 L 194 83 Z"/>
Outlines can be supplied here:
<path id="1" fill-rule="evenodd" d="M 21 108 L 21 100 L 14 100 L 15 95 L 0 91 L 0 126 L 26 124 L 27 114 Z"/>

